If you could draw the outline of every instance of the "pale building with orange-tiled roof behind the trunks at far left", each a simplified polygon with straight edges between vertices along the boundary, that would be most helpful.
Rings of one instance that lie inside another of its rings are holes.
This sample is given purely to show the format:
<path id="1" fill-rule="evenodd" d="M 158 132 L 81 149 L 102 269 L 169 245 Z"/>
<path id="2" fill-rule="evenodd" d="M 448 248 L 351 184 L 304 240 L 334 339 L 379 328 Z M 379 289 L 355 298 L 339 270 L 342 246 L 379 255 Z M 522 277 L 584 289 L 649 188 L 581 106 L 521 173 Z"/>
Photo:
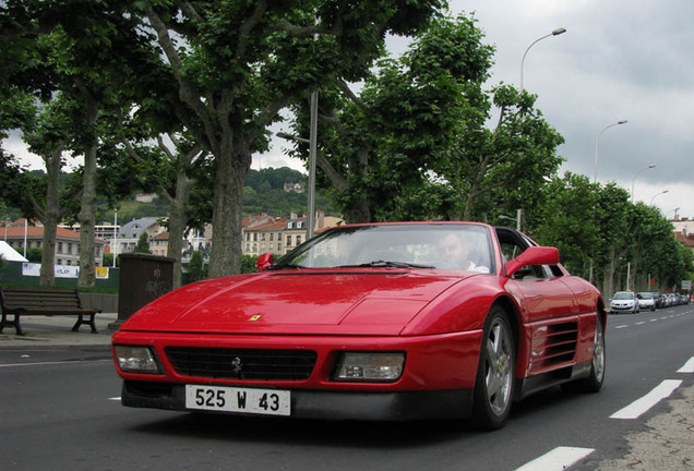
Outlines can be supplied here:
<path id="1" fill-rule="evenodd" d="M 24 241 L 26 250 L 40 249 L 44 246 L 44 227 L 5 227 L 2 234 L 3 240 L 13 249 L 24 254 Z M 80 265 L 80 232 L 58 227 L 56 229 L 56 265 L 79 266 Z M 103 266 L 104 263 L 104 241 L 94 241 L 94 263 Z"/>

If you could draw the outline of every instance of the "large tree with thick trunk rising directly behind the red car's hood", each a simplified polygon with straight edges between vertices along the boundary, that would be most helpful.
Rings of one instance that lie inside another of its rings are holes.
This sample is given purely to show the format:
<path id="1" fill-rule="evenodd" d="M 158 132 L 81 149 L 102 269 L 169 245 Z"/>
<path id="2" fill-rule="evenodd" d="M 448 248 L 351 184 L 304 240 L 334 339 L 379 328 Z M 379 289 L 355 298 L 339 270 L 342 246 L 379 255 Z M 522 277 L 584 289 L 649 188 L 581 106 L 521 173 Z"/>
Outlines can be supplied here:
<path id="1" fill-rule="evenodd" d="M 214 156 L 211 276 L 240 270 L 243 180 L 279 111 L 322 83 L 361 80 L 387 33 L 416 32 L 442 7 L 423 0 L 137 4 L 176 87 L 165 96 Z"/>

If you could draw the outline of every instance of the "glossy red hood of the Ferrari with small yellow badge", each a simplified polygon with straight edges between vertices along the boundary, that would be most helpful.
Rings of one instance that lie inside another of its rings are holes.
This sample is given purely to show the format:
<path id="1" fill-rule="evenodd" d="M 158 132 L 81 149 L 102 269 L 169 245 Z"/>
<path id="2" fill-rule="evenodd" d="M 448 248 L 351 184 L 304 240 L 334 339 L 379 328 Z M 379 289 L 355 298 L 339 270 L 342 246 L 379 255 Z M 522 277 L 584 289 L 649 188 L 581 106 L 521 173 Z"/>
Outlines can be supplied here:
<path id="1" fill-rule="evenodd" d="M 122 330 L 266 335 L 397 335 L 451 286 L 441 270 L 265 271 L 193 283 L 130 317 Z"/>

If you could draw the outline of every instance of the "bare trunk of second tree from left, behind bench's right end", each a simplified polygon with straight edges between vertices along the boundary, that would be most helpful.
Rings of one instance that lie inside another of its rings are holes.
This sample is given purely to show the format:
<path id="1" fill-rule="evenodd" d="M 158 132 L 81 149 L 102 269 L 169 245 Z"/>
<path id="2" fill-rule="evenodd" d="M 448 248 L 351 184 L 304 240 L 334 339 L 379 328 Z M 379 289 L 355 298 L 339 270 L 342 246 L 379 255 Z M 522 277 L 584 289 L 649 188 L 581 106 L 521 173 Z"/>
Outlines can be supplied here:
<path id="1" fill-rule="evenodd" d="M 98 117 L 95 100 L 86 99 L 87 126 L 94 129 Z M 84 153 L 84 173 L 82 176 L 82 198 L 80 213 L 80 278 L 81 288 L 93 287 L 96 281 L 94 263 L 94 226 L 96 225 L 96 140 Z"/>

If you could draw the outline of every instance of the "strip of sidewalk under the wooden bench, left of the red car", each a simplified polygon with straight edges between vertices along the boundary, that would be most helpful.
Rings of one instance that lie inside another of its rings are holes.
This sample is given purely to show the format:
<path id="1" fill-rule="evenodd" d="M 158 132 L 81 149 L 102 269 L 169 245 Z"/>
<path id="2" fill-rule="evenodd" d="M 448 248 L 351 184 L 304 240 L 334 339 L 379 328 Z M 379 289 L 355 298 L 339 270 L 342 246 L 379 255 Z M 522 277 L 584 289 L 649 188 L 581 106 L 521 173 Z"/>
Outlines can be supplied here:
<path id="1" fill-rule="evenodd" d="M 10 318 L 13 318 L 11 316 Z M 110 349 L 111 334 L 109 325 L 118 319 L 117 313 L 101 313 L 95 316 L 98 334 L 92 334 L 88 325 L 72 331 L 77 316 L 22 316 L 22 329 L 25 336 L 15 335 L 14 326 L 5 326 L 0 334 L 0 349 L 36 349 L 52 347 L 98 347 Z"/>

